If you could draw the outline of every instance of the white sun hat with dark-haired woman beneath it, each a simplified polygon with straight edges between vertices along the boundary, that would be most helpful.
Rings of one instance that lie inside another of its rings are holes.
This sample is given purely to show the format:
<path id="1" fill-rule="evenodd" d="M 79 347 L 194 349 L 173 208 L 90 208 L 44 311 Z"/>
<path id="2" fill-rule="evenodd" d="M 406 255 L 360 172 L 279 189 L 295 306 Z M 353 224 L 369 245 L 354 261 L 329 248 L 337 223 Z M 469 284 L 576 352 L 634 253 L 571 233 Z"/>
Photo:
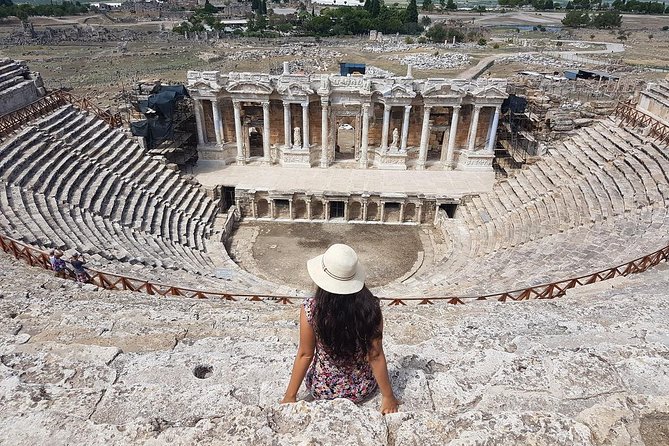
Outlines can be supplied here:
<path id="1" fill-rule="evenodd" d="M 353 294 L 365 286 L 365 268 L 348 245 L 330 246 L 325 254 L 307 261 L 307 271 L 314 283 L 329 293 Z"/>

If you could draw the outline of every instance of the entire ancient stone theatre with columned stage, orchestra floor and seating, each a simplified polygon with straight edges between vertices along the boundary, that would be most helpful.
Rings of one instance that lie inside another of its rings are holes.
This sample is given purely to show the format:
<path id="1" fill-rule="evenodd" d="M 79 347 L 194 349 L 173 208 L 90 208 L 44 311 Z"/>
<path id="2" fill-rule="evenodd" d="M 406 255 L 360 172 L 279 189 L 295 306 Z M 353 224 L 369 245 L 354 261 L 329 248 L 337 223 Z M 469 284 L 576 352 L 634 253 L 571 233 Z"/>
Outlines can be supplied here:
<path id="1" fill-rule="evenodd" d="M 667 444 L 668 81 L 514 117 L 500 79 L 184 78 L 189 166 L 0 60 L 0 443 Z M 279 404 L 336 241 L 400 413 Z"/>

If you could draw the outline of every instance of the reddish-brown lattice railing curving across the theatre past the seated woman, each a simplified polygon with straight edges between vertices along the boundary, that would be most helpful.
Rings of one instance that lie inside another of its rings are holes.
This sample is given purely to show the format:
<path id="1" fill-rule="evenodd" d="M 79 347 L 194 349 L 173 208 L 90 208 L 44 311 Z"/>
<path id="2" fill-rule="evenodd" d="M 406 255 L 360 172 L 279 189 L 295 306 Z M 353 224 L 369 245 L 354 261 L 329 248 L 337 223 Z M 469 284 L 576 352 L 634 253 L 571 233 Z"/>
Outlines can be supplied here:
<path id="1" fill-rule="evenodd" d="M 0 249 L 13 255 L 18 260 L 26 261 L 30 266 L 38 266 L 46 270 L 51 270 L 49 255 L 40 249 L 27 245 L 0 234 Z M 389 306 L 406 306 L 408 302 L 417 302 L 418 305 L 433 305 L 437 301 L 444 301 L 452 305 L 462 305 L 473 301 L 523 301 L 534 299 L 554 299 L 564 296 L 566 291 L 581 285 L 589 285 L 615 277 L 628 276 L 636 274 L 665 262 L 669 259 L 669 245 L 643 257 L 631 260 L 608 269 L 597 271 L 570 279 L 559 280 L 557 282 L 545 283 L 529 288 L 520 288 L 513 291 L 504 291 L 501 293 L 486 294 L 480 296 L 423 296 L 423 297 L 378 297 L 379 300 L 388 302 Z M 295 300 L 301 300 L 302 297 L 283 296 L 273 294 L 245 294 L 235 292 L 219 292 L 184 288 L 174 285 L 165 285 L 151 282 L 143 279 L 136 279 L 122 276 L 119 274 L 98 271 L 86 267 L 90 276 L 90 283 L 106 290 L 125 290 L 145 293 L 151 296 L 175 296 L 190 299 L 220 299 L 220 300 L 249 300 L 252 302 L 269 301 L 280 304 L 292 304 Z"/>

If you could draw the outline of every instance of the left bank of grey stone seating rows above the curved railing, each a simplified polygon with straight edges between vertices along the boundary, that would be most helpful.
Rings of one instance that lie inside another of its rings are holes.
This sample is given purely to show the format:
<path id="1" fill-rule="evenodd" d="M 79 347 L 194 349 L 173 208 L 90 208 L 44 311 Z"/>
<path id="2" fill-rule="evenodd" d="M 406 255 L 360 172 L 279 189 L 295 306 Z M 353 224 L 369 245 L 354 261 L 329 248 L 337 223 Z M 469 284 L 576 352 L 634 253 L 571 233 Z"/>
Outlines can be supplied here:
<path id="1" fill-rule="evenodd" d="M 217 204 L 93 114 L 63 106 L 0 144 L 0 228 L 44 248 L 189 272 L 213 267 Z"/>

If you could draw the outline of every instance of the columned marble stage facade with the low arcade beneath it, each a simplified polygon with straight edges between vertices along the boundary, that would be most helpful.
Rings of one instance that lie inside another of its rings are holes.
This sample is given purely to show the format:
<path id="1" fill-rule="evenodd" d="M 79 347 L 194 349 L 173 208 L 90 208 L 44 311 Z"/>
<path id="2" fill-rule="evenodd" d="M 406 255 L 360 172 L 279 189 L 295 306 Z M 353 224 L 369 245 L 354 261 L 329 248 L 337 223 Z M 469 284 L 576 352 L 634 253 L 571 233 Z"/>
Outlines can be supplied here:
<path id="1" fill-rule="evenodd" d="M 278 76 L 188 72 L 200 159 L 208 169 L 249 165 L 249 174 L 253 165 L 277 165 L 489 177 L 505 88 L 501 79 L 414 79 L 411 67 L 395 78 L 290 73 L 288 63 Z M 217 185 L 236 189 L 234 203 L 248 218 L 420 224 L 463 196 L 431 187 L 401 193 L 331 184 L 318 193 L 278 184 L 263 190 L 258 183 L 243 189 L 226 182 L 225 169 L 220 176 Z M 476 191 L 465 188 L 464 194 Z"/>

